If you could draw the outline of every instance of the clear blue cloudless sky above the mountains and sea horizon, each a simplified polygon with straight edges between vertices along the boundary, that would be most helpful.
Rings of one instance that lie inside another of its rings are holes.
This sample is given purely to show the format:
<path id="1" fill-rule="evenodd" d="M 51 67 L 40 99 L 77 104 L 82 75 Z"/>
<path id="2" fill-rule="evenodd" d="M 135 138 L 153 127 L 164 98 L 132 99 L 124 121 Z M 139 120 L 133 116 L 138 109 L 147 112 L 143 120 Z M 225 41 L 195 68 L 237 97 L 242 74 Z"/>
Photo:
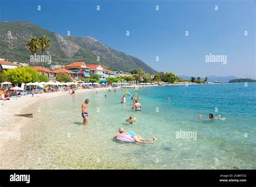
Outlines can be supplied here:
<path id="1" fill-rule="evenodd" d="M 0 0 L 0 20 L 89 35 L 157 71 L 255 78 L 255 5 L 253 0 Z M 226 61 L 206 62 L 210 54 Z"/>

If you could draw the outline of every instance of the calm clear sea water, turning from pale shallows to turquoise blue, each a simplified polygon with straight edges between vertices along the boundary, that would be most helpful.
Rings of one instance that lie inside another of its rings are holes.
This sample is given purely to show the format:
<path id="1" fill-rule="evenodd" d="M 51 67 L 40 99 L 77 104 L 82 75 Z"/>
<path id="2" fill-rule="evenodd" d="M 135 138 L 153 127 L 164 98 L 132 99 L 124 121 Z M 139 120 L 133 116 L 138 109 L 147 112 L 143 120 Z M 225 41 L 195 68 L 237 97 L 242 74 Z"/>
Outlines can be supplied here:
<path id="1" fill-rule="evenodd" d="M 30 134 L 23 140 L 24 154 L 32 155 L 26 167 L 256 169 L 255 88 L 255 83 L 239 83 L 128 89 L 142 98 L 142 112 L 131 110 L 129 97 L 126 104 L 120 103 L 127 89 L 39 101 L 25 110 L 34 113 L 24 129 Z M 88 126 L 82 125 L 80 109 L 85 98 L 90 99 Z M 199 114 L 208 113 L 226 119 L 199 119 Z M 129 116 L 138 123 L 126 124 Z M 119 127 L 158 141 L 151 145 L 113 140 Z M 197 139 L 176 138 L 180 130 L 197 132 Z"/>

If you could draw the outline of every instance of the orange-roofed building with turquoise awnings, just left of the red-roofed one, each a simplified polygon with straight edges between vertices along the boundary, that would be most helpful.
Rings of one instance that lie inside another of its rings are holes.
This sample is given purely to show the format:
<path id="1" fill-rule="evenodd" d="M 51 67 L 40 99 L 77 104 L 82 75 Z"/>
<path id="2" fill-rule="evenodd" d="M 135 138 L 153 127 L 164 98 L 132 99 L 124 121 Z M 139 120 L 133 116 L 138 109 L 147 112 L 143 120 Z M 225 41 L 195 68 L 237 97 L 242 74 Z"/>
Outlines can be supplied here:
<path id="1" fill-rule="evenodd" d="M 75 79 L 90 78 L 90 69 L 86 66 L 84 62 L 73 62 L 69 65 L 66 65 L 64 68 L 66 70 L 75 72 Z"/>

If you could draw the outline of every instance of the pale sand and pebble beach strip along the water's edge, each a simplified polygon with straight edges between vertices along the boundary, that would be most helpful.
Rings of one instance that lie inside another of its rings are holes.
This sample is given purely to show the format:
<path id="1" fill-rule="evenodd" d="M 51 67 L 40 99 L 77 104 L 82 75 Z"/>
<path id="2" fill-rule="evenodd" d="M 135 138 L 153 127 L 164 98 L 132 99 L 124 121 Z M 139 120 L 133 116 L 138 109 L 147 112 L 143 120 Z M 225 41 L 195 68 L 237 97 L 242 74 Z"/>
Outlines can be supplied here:
<path id="1" fill-rule="evenodd" d="M 113 88 L 96 88 L 96 89 L 82 89 L 76 90 L 76 94 L 85 92 L 96 92 L 109 90 Z M 15 166 L 15 157 L 18 156 L 19 151 L 17 149 L 17 155 L 10 155 L 14 152 L 14 147 L 19 144 L 20 139 L 25 139 L 27 132 L 22 132 L 22 128 L 31 118 L 15 117 L 14 114 L 23 113 L 23 108 L 29 105 L 35 104 L 39 100 L 50 99 L 62 95 L 68 95 L 68 91 L 58 91 L 51 93 L 37 93 L 32 95 L 26 95 L 18 97 L 17 99 L 5 100 L 0 102 L 0 169 L 10 169 L 11 166 Z M 11 135 L 12 133 L 12 135 Z M 12 138 L 11 138 L 12 136 Z M 19 146 L 20 147 L 20 146 Z M 16 169 L 15 167 L 12 169 Z"/>

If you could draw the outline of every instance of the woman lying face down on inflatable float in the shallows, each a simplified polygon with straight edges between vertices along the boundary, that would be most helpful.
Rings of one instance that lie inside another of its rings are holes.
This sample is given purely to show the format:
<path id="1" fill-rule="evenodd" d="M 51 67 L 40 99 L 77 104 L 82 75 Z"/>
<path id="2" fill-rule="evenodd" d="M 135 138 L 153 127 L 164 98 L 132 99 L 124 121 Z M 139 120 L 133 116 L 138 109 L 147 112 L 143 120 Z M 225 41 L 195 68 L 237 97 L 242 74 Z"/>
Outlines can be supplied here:
<path id="1" fill-rule="evenodd" d="M 132 131 L 130 132 L 125 132 L 123 128 L 118 129 L 119 134 L 114 135 L 114 138 L 121 140 L 121 141 L 126 141 L 126 142 L 138 142 L 138 143 L 153 143 L 154 142 L 147 142 L 150 140 L 157 140 L 156 138 L 151 138 L 151 139 L 143 139 L 139 134 L 134 133 Z"/>

